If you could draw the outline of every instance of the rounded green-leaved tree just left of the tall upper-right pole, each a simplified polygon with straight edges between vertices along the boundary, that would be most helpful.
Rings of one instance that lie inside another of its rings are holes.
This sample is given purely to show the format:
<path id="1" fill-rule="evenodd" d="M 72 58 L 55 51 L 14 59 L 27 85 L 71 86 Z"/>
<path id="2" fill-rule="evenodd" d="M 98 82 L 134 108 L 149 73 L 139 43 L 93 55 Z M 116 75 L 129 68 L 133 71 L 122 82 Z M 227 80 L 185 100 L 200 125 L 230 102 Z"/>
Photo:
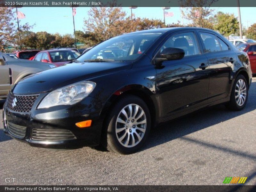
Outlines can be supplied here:
<path id="1" fill-rule="evenodd" d="M 236 34 L 239 29 L 239 23 L 234 14 L 218 12 L 215 16 L 214 30 L 219 31 L 223 36 Z"/>

